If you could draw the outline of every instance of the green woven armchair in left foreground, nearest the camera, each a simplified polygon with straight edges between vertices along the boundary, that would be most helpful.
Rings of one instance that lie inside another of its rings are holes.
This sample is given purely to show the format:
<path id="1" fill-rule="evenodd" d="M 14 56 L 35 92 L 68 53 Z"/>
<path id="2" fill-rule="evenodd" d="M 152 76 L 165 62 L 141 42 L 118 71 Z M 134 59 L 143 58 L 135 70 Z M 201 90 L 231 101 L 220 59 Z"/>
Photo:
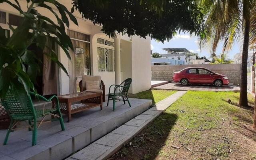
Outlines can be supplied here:
<path id="1" fill-rule="evenodd" d="M 33 92 L 30 92 L 30 96 L 27 97 L 27 105 L 26 107 L 22 107 L 20 105 L 20 102 L 13 96 L 13 94 L 10 92 L 10 90 L 7 92 L 5 98 L 2 98 L 1 103 L 2 106 L 6 109 L 8 112 L 11 122 L 10 126 L 8 128 L 8 131 L 6 133 L 6 137 L 4 139 L 4 145 L 6 145 L 8 137 L 10 132 L 14 131 L 14 127 L 18 124 L 20 121 L 26 121 L 28 120 L 28 130 L 33 132 L 32 134 L 32 145 L 36 145 L 36 139 L 37 139 L 37 130 L 39 126 L 42 124 L 44 118 L 47 115 L 52 115 L 57 117 L 60 120 L 61 129 L 65 130 L 64 122 L 62 119 L 62 115 L 60 113 L 60 106 L 57 96 L 52 96 L 49 99 L 44 98 L 43 96 L 38 95 L 39 99 L 42 99 L 46 102 L 52 101 L 52 99 L 55 98 L 55 108 L 45 109 L 45 108 L 34 108 L 31 95 L 35 96 Z M 37 125 L 37 118 L 43 117 L 40 123 Z M 26 121 L 27 122 L 27 121 Z M 33 122 L 33 124 L 31 123 Z"/>

